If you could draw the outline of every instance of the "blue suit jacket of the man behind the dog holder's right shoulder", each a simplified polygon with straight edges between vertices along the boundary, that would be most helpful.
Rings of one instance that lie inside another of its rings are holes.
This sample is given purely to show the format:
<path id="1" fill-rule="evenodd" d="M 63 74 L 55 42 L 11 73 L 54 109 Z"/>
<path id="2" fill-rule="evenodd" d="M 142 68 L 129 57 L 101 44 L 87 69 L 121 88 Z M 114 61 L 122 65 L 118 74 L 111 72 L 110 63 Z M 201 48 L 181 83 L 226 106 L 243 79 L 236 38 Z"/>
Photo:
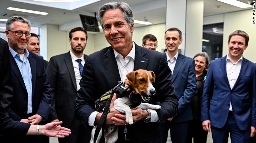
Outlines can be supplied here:
<path id="1" fill-rule="evenodd" d="M 166 58 L 166 54 L 165 58 Z M 178 97 L 178 115 L 173 122 L 182 122 L 193 119 L 190 102 L 196 95 L 196 70 L 195 61 L 190 57 L 178 55 L 173 73 L 172 83 L 175 87 L 175 95 Z"/>

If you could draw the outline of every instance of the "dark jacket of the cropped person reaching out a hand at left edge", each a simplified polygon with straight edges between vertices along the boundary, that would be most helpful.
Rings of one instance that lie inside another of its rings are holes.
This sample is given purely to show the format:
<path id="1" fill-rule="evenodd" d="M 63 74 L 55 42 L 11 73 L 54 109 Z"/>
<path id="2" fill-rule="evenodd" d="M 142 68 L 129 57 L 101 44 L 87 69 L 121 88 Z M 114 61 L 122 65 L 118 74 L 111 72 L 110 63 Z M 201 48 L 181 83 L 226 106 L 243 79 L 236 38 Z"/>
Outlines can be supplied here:
<path id="1" fill-rule="evenodd" d="M 13 121 L 6 115 L 6 109 L 11 104 L 11 65 L 8 43 L 0 38 L 0 134 L 26 135 L 30 124 Z M 0 138 L 1 140 L 1 138 Z"/>

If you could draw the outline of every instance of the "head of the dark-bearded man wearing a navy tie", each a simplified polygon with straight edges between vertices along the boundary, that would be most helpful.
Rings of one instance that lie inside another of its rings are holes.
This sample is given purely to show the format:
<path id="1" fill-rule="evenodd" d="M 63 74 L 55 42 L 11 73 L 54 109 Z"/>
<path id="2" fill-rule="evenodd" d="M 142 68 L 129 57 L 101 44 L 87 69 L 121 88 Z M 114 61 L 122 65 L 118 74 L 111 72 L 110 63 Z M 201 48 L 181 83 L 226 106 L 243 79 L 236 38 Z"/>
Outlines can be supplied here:
<path id="1" fill-rule="evenodd" d="M 86 34 L 83 31 L 73 32 L 72 38 L 69 39 L 69 44 L 71 45 L 71 50 L 74 53 L 83 53 L 87 44 Z"/>

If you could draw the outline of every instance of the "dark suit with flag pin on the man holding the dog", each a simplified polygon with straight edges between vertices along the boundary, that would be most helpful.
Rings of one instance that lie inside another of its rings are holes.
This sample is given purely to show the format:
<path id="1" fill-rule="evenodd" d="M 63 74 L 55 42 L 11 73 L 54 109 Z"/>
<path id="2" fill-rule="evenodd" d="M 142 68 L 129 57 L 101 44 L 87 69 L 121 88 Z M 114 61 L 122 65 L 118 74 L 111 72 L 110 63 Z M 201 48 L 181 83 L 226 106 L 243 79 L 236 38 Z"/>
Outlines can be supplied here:
<path id="1" fill-rule="evenodd" d="M 164 55 L 160 52 L 140 47 L 137 44 L 135 44 L 135 49 L 134 71 L 138 69 L 151 70 L 156 75 L 153 86 L 158 94 L 150 98 L 148 103 L 157 104 L 157 102 L 161 102 L 161 109 L 156 110 L 161 122 L 174 117 L 177 113 L 178 102 L 174 94 L 175 89 L 171 83 L 171 71 Z M 88 125 L 88 117 L 91 113 L 96 111 L 94 108 L 96 99 L 115 87 L 120 80 L 112 47 L 106 47 L 87 57 L 75 108 L 75 115 L 77 119 L 84 123 L 84 126 Z M 127 130 L 130 142 L 160 142 L 158 122 L 145 123 L 140 120 L 132 126 L 127 125 Z M 123 134 L 123 130 L 118 130 L 118 132 L 118 135 Z M 119 139 L 121 139 L 120 136 L 118 137 Z"/>

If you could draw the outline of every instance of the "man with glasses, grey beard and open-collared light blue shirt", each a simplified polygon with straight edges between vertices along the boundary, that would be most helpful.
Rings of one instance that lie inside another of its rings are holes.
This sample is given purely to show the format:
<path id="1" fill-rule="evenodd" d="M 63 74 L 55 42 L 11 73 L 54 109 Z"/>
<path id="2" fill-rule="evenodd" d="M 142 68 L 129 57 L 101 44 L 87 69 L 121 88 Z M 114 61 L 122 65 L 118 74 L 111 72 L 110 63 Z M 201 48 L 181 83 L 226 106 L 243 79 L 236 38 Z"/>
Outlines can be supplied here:
<path id="1" fill-rule="evenodd" d="M 9 116 L 15 121 L 39 124 L 50 112 L 50 84 L 43 58 L 27 51 L 31 24 L 27 19 L 13 16 L 6 22 L 10 51 L 13 98 Z M 42 136 L 16 136 L 11 142 L 42 142 Z M 8 135 L 7 135 L 8 138 Z"/>

